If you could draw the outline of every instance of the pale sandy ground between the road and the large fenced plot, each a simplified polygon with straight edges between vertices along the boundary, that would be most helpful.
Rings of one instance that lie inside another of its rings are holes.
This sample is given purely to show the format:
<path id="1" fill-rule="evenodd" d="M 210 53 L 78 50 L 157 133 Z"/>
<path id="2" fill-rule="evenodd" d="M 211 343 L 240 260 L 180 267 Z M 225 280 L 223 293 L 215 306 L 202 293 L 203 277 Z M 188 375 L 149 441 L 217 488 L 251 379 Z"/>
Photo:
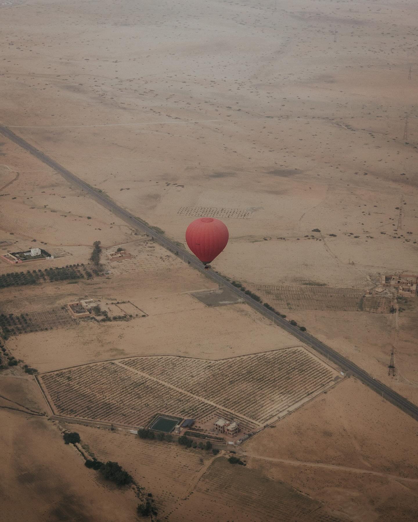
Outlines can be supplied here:
<path id="1" fill-rule="evenodd" d="M 213 288 L 212 283 L 177 258 L 174 267 L 160 267 L 166 251 L 158 245 L 149 255 L 153 270 L 137 267 L 135 272 L 118 275 L 113 274 L 118 269 L 112 263 L 110 279 L 42 284 L 40 301 L 38 287 L 12 287 L 13 298 L 2 304 L 4 313 L 40 310 L 40 304 L 48 310 L 88 296 L 103 302 L 129 300 L 148 316 L 127 323 L 82 322 L 66 330 L 13 337 L 8 341 L 10 351 L 39 371 L 47 371 L 127 355 L 169 353 L 218 359 L 299 344 L 245 304 L 205 306 L 189 292 Z"/>

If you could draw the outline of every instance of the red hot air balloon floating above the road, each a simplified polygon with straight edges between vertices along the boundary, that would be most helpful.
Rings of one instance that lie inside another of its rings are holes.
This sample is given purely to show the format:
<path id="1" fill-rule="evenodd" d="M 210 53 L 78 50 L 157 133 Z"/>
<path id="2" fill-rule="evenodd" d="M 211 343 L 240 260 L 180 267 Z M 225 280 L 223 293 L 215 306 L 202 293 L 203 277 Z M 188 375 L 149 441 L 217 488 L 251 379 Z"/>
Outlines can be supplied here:
<path id="1" fill-rule="evenodd" d="M 228 238 L 226 225 L 215 218 L 195 219 L 186 230 L 186 242 L 190 250 L 205 265 L 224 250 Z"/>

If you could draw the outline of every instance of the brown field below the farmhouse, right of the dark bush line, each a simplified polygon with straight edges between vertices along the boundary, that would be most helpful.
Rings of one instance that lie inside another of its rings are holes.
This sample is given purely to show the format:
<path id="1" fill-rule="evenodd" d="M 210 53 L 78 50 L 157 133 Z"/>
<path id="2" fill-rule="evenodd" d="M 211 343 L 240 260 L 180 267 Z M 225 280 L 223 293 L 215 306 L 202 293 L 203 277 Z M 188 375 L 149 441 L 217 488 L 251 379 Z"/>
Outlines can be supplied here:
<path id="1" fill-rule="evenodd" d="M 259 470 L 234 467 L 224 457 L 146 442 L 132 434 L 80 426 L 82 445 L 97 458 L 116 458 L 159 499 L 168 520 L 280 520 L 338 522 L 323 503 Z"/>

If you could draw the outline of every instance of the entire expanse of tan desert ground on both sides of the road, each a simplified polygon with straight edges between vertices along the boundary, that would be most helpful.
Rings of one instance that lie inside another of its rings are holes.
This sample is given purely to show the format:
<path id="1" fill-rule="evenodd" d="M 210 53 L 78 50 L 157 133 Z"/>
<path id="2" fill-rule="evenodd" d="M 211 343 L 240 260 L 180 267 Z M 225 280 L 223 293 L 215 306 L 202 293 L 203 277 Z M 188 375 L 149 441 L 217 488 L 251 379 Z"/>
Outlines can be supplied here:
<path id="1" fill-rule="evenodd" d="M 380 291 L 382 276 L 418 274 L 417 22 L 408 0 L 0 0 L 0 125 L 179 245 L 193 219 L 224 221 L 213 269 L 417 404 L 418 297 Z M 352 376 L 295 384 L 304 400 L 234 447 L 246 466 L 227 461 L 232 446 L 144 441 L 123 419 L 82 412 L 84 399 L 118 405 L 118 381 L 89 392 L 72 382 L 74 404 L 52 411 L 45 372 L 70 382 L 91 368 L 99 383 L 109 364 L 183 357 L 233 361 L 213 382 L 257 421 L 254 408 L 286 403 L 277 394 L 293 374 L 272 370 L 276 395 L 260 388 L 251 406 L 231 385 L 236 361 L 310 352 L 3 135 L 0 203 L 0 255 L 53 256 L 0 259 L 2 285 L 21 271 L 84 270 L 0 288 L 2 317 L 25 317 L 0 331 L 7 519 L 133 521 L 152 492 L 154 520 L 416 520 L 416 421 Z M 118 247 L 130 257 L 112 261 Z M 67 304 L 85 299 L 115 318 L 70 317 Z M 189 372 L 201 388 L 184 389 L 215 404 L 194 370 L 165 368 L 153 378 L 173 390 Z M 147 393 L 130 398 L 134 424 L 152 410 Z M 65 445 L 65 431 L 80 443 Z M 119 462 L 143 489 L 110 484 L 86 456 Z"/>

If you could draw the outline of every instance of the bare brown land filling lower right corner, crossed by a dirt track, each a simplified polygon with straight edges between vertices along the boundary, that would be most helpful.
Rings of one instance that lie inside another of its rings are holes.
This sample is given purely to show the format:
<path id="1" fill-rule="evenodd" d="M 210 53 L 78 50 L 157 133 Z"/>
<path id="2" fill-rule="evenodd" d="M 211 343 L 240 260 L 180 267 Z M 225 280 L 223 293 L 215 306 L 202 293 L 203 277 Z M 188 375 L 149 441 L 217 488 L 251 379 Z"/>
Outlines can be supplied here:
<path id="1" fill-rule="evenodd" d="M 415 444 L 416 421 L 350 378 L 241 449 L 251 469 L 325 502 L 343 520 L 412 522 Z"/>

